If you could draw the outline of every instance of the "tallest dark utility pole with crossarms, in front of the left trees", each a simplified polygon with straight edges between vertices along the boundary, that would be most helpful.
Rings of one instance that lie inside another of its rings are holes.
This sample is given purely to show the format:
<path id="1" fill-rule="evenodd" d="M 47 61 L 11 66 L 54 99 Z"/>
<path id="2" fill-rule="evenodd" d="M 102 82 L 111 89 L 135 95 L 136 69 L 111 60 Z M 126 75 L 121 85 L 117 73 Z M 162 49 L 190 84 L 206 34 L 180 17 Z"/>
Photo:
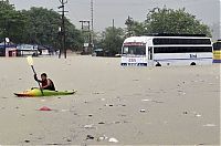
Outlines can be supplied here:
<path id="1" fill-rule="evenodd" d="M 65 35 L 65 18 L 64 18 L 64 13 L 69 12 L 69 11 L 65 11 L 64 4 L 67 3 L 67 0 L 60 0 L 60 2 L 62 4 L 62 6 L 59 7 L 59 9 L 62 9 L 62 11 L 60 11 L 60 12 L 62 12 L 62 25 L 61 25 L 61 33 L 60 33 L 61 36 L 62 36 L 62 45 L 61 45 L 62 49 L 60 48 L 59 59 L 61 59 L 62 52 L 64 52 L 64 58 L 66 59 L 66 35 Z"/>

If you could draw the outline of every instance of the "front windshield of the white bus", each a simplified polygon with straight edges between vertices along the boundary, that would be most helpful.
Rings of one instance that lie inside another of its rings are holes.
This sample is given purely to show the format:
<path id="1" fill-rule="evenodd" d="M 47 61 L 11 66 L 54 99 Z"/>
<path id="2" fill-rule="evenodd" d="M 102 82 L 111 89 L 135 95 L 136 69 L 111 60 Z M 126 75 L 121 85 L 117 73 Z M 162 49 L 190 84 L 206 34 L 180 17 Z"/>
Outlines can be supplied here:
<path id="1" fill-rule="evenodd" d="M 123 54 L 146 55 L 146 46 L 145 45 L 124 45 Z"/>

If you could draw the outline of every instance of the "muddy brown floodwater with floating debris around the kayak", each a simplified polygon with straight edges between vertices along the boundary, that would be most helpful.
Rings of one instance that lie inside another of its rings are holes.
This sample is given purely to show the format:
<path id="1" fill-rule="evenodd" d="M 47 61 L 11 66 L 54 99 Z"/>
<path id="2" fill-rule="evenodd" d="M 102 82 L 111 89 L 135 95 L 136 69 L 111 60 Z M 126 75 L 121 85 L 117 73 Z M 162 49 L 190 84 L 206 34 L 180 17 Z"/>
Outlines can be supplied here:
<path id="1" fill-rule="evenodd" d="M 219 145 L 220 65 L 123 67 L 120 59 L 34 58 L 69 96 L 38 86 L 25 58 L 0 58 L 2 145 Z M 39 111 L 42 107 L 51 111 Z"/>

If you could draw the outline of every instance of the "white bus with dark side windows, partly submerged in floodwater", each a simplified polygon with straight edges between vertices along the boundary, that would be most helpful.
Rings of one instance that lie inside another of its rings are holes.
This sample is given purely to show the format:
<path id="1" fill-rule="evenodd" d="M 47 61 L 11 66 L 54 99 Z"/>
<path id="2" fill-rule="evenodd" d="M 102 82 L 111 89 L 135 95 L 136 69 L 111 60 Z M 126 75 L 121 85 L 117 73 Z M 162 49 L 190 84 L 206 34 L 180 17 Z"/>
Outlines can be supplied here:
<path id="1" fill-rule="evenodd" d="M 122 48 L 122 65 L 202 65 L 212 56 L 211 39 L 201 34 L 130 36 Z"/>

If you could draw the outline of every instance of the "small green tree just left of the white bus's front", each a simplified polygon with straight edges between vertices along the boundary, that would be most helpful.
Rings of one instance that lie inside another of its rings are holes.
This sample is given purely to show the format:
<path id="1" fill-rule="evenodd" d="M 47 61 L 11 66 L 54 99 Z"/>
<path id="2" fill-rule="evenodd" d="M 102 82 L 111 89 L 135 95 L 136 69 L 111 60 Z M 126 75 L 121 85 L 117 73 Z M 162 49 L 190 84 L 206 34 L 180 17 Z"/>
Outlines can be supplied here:
<path id="1" fill-rule="evenodd" d="M 99 46 L 105 49 L 109 55 L 120 53 L 122 44 L 124 41 L 124 30 L 122 28 L 106 28 L 102 33 Z"/>

